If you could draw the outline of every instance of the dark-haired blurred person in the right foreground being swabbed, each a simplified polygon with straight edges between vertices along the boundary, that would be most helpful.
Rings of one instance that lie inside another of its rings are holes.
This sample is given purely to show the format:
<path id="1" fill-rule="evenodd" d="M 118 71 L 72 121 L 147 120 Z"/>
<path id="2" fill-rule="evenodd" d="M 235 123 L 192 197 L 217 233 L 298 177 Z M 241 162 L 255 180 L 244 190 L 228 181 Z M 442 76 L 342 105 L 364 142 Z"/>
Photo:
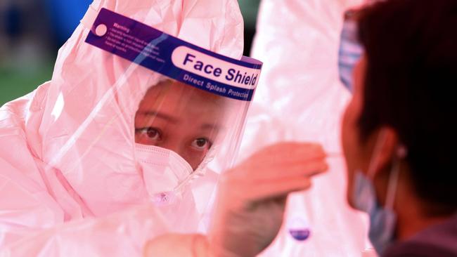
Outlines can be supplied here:
<path id="1" fill-rule="evenodd" d="M 382 256 L 457 256 L 457 3 L 381 1 L 352 18 L 363 55 L 342 122 L 348 202 Z"/>

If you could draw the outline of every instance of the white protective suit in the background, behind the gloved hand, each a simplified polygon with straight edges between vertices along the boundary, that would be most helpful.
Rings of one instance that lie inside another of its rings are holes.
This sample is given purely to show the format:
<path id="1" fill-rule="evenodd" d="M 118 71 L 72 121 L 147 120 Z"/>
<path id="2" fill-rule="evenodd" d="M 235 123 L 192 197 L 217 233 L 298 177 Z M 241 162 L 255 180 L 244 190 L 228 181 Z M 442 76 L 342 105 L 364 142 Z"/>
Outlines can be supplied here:
<path id="1" fill-rule="evenodd" d="M 340 118 L 350 92 L 338 77 L 344 13 L 363 1 L 262 1 L 252 56 L 269 60 L 247 118 L 240 161 L 264 145 L 323 144 L 330 170 L 288 199 L 283 228 L 261 256 L 361 256 L 365 217 L 346 203 Z"/>

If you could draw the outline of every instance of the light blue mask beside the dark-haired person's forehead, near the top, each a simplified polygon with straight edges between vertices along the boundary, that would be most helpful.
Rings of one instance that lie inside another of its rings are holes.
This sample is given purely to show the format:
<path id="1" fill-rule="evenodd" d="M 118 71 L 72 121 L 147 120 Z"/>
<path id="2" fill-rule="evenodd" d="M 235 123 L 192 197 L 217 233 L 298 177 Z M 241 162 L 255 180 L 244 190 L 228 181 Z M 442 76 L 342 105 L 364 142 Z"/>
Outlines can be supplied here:
<path id="1" fill-rule="evenodd" d="M 354 66 L 363 55 L 363 47 L 357 39 L 357 22 L 353 17 L 353 11 L 345 13 L 345 22 L 342 26 L 340 37 L 340 49 L 338 51 L 338 72 L 340 81 L 352 92 L 354 82 L 352 72 Z"/>

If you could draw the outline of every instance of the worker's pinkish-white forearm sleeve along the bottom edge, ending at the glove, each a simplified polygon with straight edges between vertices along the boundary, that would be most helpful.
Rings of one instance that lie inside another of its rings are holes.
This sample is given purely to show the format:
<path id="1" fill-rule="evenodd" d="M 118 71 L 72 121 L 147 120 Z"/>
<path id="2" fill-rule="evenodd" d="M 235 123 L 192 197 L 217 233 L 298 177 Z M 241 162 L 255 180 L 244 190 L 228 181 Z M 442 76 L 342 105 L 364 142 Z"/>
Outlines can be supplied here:
<path id="1" fill-rule="evenodd" d="M 152 206 L 36 230 L 4 246 L 0 256 L 141 256 L 147 239 L 167 232 Z"/>

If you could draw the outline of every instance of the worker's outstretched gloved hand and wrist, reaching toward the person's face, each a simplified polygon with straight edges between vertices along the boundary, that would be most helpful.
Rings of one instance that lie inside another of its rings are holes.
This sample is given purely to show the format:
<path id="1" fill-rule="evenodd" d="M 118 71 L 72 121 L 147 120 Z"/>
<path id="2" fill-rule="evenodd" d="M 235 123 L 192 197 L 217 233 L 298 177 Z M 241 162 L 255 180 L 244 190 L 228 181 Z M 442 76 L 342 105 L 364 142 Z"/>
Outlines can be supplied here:
<path id="1" fill-rule="evenodd" d="M 219 182 L 212 228 L 202 235 L 165 235 L 149 242 L 145 256 L 256 256 L 273 242 L 290 192 L 328 169 L 320 145 L 278 143 L 226 171 Z"/>

